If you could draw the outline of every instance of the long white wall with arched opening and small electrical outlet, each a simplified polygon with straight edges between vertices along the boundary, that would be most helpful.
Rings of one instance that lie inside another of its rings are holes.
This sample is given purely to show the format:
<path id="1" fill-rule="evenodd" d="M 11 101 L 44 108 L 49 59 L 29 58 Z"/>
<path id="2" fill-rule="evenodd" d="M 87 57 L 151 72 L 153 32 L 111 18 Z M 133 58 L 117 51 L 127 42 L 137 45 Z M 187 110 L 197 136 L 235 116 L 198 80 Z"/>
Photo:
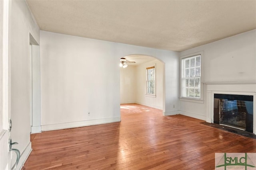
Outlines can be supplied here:
<path id="1" fill-rule="evenodd" d="M 119 60 L 132 54 L 166 61 L 178 88 L 179 53 L 40 31 L 42 130 L 120 121 Z M 165 95 L 172 111 L 176 91 Z"/>

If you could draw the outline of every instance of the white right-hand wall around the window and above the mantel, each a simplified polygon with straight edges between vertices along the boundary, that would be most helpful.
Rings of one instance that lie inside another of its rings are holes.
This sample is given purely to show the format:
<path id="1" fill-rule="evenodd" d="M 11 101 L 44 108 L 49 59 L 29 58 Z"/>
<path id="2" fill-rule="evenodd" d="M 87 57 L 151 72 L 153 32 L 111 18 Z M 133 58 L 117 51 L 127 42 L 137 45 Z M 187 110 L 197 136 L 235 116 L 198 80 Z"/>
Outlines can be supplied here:
<path id="1" fill-rule="evenodd" d="M 256 82 L 256 30 L 182 51 L 180 56 L 204 51 L 204 101 L 180 101 L 182 114 L 206 120 L 206 84 L 254 84 Z"/>

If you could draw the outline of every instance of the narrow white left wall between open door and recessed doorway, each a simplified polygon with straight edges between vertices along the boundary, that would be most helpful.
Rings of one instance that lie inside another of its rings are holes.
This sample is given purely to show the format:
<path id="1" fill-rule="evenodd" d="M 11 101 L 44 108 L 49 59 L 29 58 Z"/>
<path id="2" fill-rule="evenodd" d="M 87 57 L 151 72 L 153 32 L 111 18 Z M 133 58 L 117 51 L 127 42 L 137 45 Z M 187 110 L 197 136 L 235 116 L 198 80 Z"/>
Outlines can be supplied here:
<path id="1" fill-rule="evenodd" d="M 19 143 L 13 146 L 21 152 L 19 168 L 31 150 L 29 34 L 39 43 L 39 28 L 25 0 L 12 0 L 11 12 L 11 137 Z"/>

